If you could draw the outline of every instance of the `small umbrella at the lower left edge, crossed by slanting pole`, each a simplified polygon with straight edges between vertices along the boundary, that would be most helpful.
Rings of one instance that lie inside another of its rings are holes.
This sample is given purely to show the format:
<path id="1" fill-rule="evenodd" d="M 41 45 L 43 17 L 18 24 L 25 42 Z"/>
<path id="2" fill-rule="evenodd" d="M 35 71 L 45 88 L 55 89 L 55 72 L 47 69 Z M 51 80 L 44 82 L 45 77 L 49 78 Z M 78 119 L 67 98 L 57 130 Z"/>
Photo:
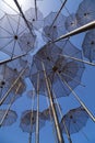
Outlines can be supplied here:
<path id="1" fill-rule="evenodd" d="M 2 117 L 5 114 L 5 112 L 7 112 L 5 109 L 0 109 L 0 125 L 1 127 L 12 125 L 17 119 L 16 112 L 13 110 L 9 110 L 5 119 L 2 122 Z"/>

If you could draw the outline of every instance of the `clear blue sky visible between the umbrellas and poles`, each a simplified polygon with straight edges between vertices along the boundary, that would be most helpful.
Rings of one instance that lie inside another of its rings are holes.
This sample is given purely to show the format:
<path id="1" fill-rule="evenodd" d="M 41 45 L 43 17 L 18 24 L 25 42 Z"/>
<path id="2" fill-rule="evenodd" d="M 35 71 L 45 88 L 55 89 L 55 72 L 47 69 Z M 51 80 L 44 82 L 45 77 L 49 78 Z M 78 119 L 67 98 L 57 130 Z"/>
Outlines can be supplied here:
<path id="1" fill-rule="evenodd" d="M 9 1 L 12 1 L 12 0 L 9 0 Z M 34 7 L 34 2 L 32 2 L 31 0 L 23 0 L 23 1 L 24 2 L 21 1 L 23 10 L 28 9 L 31 6 Z M 72 2 L 72 0 L 68 0 L 66 7 L 68 8 L 70 13 L 73 13 L 76 11 L 79 3 L 82 0 L 73 0 Z M 13 12 L 12 10 L 10 10 L 10 8 L 5 7 L 2 1 L 0 1 L 0 4 L 1 4 L 0 9 L 8 11 L 8 13 Z M 37 2 L 37 6 L 39 10 L 44 13 L 44 16 L 46 16 L 51 11 L 58 11 L 61 6 L 61 2 L 60 0 L 39 0 Z M 68 15 L 66 9 L 62 10 L 62 13 L 64 15 Z M 3 15 L 2 12 L 1 12 L 1 15 Z M 83 42 L 83 34 L 73 36 L 70 38 L 70 41 L 78 48 L 81 48 L 82 42 Z M 41 43 L 39 43 L 39 45 L 41 45 Z M 1 59 L 1 56 L 0 56 L 0 59 Z M 85 65 L 85 72 L 82 76 L 82 82 L 85 85 L 85 87 L 79 86 L 75 88 L 75 91 L 95 116 L 95 67 Z M 31 86 L 28 84 L 28 80 L 26 81 L 26 84 L 27 84 L 27 90 L 26 90 L 27 92 L 31 89 Z M 24 110 L 31 109 L 31 100 L 26 97 L 26 92 L 13 103 L 11 109 L 17 112 L 19 118 L 17 118 L 16 123 L 14 123 L 13 125 L 0 129 L 0 143 L 28 143 L 28 133 L 22 132 L 22 130 L 19 127 L 22 112 Z M 69 97 L 63 97 L 63 98 L 58 99 L 58 101 L 62 107 L 63 114 L 66 114 L 70 109 L 73 109 L 80 106 L 78 101 L 74 99 L 72 94 Z M 40 96 L 39 102 L 40 102 L 39 103 L 40 110 L 44 110 L 47 107 L 46 98 Z M 0 108 L 5 108 L 5 106 L 2 106 Z M 88 140 L 86 140 L 83 133 L 86 134 Z M 64 136 L 66 143 L 68 143 L 66 135 L 63 136 Z M 34 138 L 35 138 L 35 134 L 33 134 L 33 143 L 35 141 Z M 83 130 L 80 131 L 79 133 L 71 135 L 71 138 L 72 138 L 73 143 L 95 143 L 95 123 L 91 119 L 88 119 L 86 127 L 83 128 Z M 48 143 L 48 142 L 49 143 L 55 142 L 50 122 L 46 122 L 45 128 L 40 130 L 40 143 Z"/>

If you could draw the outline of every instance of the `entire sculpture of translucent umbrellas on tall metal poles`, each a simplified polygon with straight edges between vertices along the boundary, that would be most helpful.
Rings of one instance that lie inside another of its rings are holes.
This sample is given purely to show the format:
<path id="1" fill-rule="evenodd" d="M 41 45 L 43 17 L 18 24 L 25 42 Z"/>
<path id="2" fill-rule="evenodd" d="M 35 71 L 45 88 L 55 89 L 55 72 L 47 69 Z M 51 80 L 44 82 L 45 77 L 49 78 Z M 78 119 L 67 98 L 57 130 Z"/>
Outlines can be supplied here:
<path id="1" fill-rule="evenodd" d="M 72 13 L 68 18 L 61 13 L 67 0 L 63 1 L 58 12 L 50 12 L 46 18 L 43 18 L 43 13 L 37 9 L 36 0 L 35 8 L 29 8 L 25 11 L 25 14 L 17 0 L 14 0 L 14 2 L 20 14 L 5 13 L 0 19 L 0 51 L 11 57 L 11 62 L 0 63 L 0 106 L 9 103 L 7 110 L 0 110 L 0 125 L 10 125 L 16 121 L 17 116 L 10 108 L 15 99 L 26 90 L 24 79 L 28 77 L 33 88 L 27 95 L 32 99 L 35 91 L 37 109 L 34 110 L 32 107 L 31 110 L 25 110 L 22 113 L 20 128 L 23 132 L 29 133 L 29 143 L 32 133 L 36 132 L 36 143 L 39 143 L 38 130 L 45 127 L 45 121 L 50 120 L 51 117 L 57 140 L 64 143 L 62 132 L 67 133 L 68 131 L 68 135 L 79 132 L 85 125 L 88 116 L 95 121 L 92 113 L 74 92 L 76 86 L 83 86 L 81 78 L 85 69 L 84 63 L 90 65 L 91 63 L 84 62 L 82 51 L 69 41 L 69 36 L 73 35 L 72 30 L 95 20 L 94 2 L 93 0 L 83 0 L 76 13 Z M 70 12 L 68 11 L 68 13 Z M 32 58 L 28 52 L 33 54 L 35 50 L 37 36 L 34 33 L 36 33 L 35 30 L 38 31 L 39 29 L 43 30 L 41 36 L 46 45 L 38 50 Z M 83 29 L 82 31 L 84 31 Z M 88 30 L 88 28 L 85 30 Z M 71 31 L 71 34 L 66 34 L 67 31 Z M 80 32 L 79 30 L 74 33 Z M 63 34 L 67 35 L 64 37 L 68 37 L 68 40 L 63 40 Z M 84 56 L 91 62 L 95 59 L 94 36 L 94 31 L 90 31 L 82 45 Z M 86 46 L 86 38 L 88 47 Z M 13 59 L 15 57 L 16 59 Z M 82 107 L 70 110 L 62 117 L 59 124 L 59 108 L 56 100 L 59 97 L 69 96 L 71 91 Z M 43 112 L 39 111 L 39 95 L 47 96 L 50 103 L 49 108 L 43 110 Z M 72 142 L 71 139 L 69 139 L 69 142 Z"/>

